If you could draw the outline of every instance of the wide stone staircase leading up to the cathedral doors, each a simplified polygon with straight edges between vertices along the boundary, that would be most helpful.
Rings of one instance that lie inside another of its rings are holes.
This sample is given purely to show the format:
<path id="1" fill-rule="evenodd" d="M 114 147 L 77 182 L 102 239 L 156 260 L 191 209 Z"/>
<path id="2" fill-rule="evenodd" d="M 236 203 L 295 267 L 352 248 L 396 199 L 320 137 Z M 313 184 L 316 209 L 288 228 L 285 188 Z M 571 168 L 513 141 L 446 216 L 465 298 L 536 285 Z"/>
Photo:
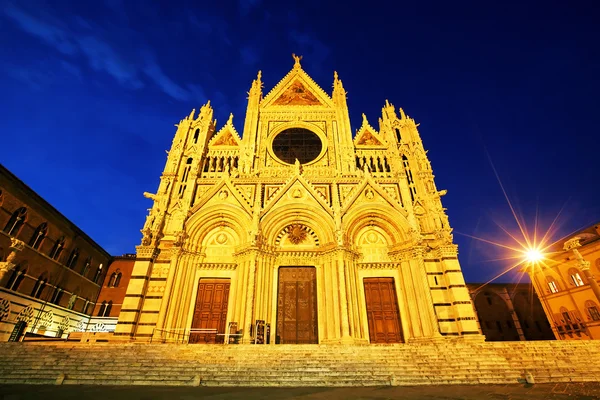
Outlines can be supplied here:
<path id="1" fill-rule="evenodd" d="M 598 381 L 600 341 L 395 345 L 0 343 L 0 383 L 380 386 Z"/>

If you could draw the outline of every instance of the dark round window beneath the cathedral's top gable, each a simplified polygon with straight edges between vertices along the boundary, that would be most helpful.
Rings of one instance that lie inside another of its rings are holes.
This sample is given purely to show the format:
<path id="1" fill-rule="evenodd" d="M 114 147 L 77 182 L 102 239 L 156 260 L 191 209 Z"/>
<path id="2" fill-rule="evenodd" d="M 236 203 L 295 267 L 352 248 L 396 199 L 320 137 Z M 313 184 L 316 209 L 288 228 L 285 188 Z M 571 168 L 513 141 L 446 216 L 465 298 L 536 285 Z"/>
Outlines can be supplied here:
<path id="1" fill-rule="evenodd" d="M 273 153 L 281 161 L 300 164 L 314 161 L 323 148 L 323 143 L 316 133 L 304 128 L 289 128 L 280 132 L 273 139 Z"/>

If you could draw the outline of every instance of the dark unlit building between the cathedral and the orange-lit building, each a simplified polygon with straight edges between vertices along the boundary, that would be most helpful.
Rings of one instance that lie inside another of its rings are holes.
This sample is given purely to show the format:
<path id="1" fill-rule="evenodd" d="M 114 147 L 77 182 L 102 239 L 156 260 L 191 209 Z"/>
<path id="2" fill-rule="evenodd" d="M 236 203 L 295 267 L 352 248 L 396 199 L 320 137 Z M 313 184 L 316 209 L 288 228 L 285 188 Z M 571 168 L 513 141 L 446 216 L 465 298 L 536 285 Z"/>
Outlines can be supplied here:
<path id="1" fill-rule="evenodd" d="M 467 287 L 487 341 L 554 339 L 530 283 L 469 283 Z"/>

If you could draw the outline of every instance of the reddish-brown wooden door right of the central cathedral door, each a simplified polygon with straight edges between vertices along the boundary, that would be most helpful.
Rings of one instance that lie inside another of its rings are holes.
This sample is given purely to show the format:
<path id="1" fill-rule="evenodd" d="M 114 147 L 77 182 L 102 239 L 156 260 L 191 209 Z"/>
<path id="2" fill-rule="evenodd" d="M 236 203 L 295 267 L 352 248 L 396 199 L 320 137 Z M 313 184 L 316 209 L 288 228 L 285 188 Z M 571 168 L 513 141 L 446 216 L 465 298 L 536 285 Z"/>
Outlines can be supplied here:
<path id="1" fill-rule="evenodd" d="M 394 278 L 365 278 L 364 283 L 371 343 L 401 342 Z"/>

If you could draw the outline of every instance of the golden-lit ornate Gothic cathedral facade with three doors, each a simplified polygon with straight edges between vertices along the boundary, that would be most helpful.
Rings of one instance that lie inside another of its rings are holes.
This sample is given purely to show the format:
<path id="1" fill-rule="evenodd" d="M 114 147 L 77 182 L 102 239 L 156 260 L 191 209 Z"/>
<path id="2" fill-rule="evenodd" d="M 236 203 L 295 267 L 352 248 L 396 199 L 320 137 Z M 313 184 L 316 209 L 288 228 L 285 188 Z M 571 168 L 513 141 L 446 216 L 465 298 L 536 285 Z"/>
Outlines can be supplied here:
<path id="1" fill-rule="evenodd" d="M 337 73 L 329 95 L 294 59 L 267 94 L 259 72 L 241 132 L 210 102 L 176 125 L 115 339 L 480 335 L 415 121 L 386 101 L 353 138 Z"/>

